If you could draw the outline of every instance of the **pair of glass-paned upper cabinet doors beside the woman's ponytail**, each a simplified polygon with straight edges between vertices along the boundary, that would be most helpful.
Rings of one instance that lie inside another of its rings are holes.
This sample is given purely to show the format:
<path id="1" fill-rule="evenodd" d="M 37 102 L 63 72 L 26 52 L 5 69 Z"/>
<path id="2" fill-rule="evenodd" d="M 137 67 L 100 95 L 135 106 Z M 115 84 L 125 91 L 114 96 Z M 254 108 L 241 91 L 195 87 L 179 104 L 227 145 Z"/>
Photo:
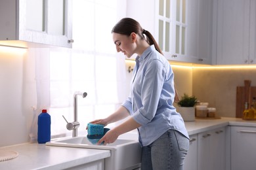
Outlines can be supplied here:
<path id="1" fill-rule="evenodd" d="M 159 0 L 158 43 L 163 52 L 185 54 L 186 0 Z"/>

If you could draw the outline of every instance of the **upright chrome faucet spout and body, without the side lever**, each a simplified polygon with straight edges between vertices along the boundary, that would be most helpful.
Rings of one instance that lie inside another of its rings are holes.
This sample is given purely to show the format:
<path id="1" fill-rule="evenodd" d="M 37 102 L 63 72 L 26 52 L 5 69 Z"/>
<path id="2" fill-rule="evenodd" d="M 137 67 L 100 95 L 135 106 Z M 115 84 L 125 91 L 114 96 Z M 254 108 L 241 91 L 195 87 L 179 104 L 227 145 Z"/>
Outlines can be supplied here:
<path id="1" fill-rule="evenodd" d="M 86 92 L 75 92 L 74 93 L 74 123 L 76 127 L 73 129 L 72 137 L 77 137 L 77 128 L 79 127 L 79 122 L 77 121 L 77 95 L 81 95 L 83 98 L 87 96 Z"/>

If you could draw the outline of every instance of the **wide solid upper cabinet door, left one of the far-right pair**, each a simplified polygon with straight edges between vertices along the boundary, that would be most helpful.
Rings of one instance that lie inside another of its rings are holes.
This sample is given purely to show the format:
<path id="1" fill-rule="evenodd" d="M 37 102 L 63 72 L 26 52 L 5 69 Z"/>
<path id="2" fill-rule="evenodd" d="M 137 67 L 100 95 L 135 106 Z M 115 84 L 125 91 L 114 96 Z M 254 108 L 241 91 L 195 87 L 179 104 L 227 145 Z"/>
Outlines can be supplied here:
<path id="1" fill-rule="evenodd" d="M 248 63 L 249 5 L 250 0 L 217 1 L 217 64 Z"/>

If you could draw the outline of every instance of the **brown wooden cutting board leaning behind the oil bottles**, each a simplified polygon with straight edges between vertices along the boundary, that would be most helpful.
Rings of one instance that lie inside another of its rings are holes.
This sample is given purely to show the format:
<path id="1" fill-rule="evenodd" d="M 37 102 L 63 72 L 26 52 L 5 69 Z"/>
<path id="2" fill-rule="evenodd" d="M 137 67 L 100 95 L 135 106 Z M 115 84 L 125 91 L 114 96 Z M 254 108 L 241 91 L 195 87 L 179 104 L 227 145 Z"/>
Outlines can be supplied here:
<path id="1" fill-rule="evenodd" d="M 244 86 L 236 87 L 236 118 L 242 118 L 245 102 L 250 107 L 253 97 L 256 97 L 256 87 L 251 86 L 251 80 L 244 80 Z"/>

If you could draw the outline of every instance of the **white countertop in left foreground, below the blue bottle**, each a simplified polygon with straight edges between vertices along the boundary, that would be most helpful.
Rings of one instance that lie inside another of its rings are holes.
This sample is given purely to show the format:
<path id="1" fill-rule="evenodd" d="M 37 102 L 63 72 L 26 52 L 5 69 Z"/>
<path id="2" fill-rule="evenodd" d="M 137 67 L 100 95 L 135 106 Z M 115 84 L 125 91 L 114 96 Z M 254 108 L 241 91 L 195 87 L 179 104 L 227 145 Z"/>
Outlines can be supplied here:
<path id="1" fill-rule="evenodd" d="M 110 157 L 110 150 L 68 148 L 26 143 L 1 147 L 0 150 L 14 150 L 18 157 L 0 161 L 1 170 L 11 169 L 65 169 Z"/>

